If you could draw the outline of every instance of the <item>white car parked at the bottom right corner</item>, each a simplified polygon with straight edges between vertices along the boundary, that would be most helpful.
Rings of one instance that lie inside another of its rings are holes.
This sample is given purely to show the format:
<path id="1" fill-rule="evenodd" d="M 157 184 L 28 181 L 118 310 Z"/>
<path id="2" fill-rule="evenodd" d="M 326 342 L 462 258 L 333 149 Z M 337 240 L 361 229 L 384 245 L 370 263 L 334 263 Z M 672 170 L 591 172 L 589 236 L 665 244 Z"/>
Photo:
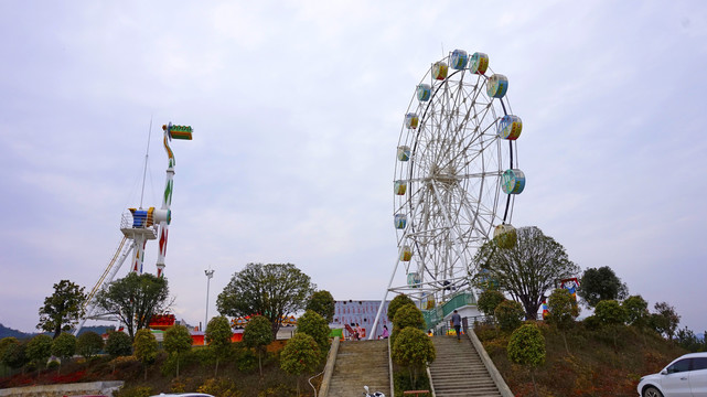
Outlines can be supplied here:
<path id="1" fill-rule="evenodd" d="M 642 397 L 707 397 L 707 352 L 674 360 L 657 374 L 639 382 Z"/>

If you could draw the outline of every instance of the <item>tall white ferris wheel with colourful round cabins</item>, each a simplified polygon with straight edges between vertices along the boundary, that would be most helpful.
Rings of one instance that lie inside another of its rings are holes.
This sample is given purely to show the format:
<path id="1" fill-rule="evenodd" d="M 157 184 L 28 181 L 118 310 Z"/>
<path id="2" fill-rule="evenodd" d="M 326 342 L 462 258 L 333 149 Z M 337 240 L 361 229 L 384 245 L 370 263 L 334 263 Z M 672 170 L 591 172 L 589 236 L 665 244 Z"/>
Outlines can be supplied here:
<path id="1" fill-rule="evenodd" d="M 463 50 L 432 63 L 416 86 L 395 159 L 399 257 L 386 296 L 407 293 L 431 309 L 472 291 L 478 247 L 491 238 L 515 244 L 514 198 L 525 187 L 516 148 L 523 122 L 507 89 L 486 54 Z M 393 286 L 400 265 L 407 282 Z"/>

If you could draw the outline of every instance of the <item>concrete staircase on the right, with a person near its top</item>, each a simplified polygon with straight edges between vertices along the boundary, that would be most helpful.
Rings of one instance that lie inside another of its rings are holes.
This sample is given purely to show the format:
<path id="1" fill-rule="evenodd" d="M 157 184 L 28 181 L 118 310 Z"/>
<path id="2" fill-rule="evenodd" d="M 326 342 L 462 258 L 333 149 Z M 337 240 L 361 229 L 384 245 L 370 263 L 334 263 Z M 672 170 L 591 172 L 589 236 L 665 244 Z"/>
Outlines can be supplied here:
<path id="1" fill-rule="evenodd" d="M 430 365 L 437 397 L 502 396 L 467 335 L 432 336 L 437 358 Z"/>

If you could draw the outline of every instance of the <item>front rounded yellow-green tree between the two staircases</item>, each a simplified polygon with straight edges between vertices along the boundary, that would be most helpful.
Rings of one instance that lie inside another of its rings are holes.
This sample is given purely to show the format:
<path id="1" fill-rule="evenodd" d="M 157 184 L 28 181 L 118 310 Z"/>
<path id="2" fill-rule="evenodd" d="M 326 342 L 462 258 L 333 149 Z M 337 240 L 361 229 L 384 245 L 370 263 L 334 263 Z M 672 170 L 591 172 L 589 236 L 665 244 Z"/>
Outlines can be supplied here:
<path id="1" fill-rule="evenodd" d="M 425 365 L 433 362 L 436 357 L 437 352 L 432 340 L 420 329 L 404 328 L 393 343 L 392 358 L 408 369 L 413 385 L 417 384 L 418 374 L 425 368 Z"/>

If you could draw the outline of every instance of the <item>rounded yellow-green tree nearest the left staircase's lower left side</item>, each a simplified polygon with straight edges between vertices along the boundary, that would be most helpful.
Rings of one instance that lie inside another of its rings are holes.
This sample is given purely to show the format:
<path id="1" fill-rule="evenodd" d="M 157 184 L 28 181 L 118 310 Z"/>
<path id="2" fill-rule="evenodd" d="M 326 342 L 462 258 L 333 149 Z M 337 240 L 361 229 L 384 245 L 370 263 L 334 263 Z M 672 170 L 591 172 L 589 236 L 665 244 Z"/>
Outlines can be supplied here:
<path id="1" fill-rule="evenodd" d="M 322 357 L 322 351 L 317 341 L 303 332 L 296 333 L 282 348 L 280 368 L 288 374 L 297 375 L 298 396 L 301 376 L 314 372 Z"/>

